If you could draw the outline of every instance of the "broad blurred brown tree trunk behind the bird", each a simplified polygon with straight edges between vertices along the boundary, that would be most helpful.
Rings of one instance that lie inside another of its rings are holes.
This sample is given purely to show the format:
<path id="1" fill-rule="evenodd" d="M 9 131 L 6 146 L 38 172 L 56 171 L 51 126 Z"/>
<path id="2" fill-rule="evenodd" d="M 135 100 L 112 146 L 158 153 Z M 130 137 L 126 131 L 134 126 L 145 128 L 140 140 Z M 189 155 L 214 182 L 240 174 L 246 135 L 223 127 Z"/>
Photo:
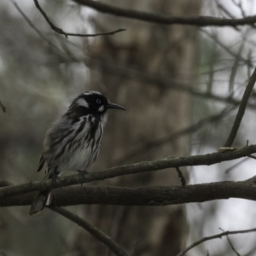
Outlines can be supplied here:
<path id="1" fill-rule="evenodd" d="M 105 1 L 107 2 L 107 1 Z M 199 15 L 201 0 L 108 1 L 122 8 L 170 15 Z M 189 136 L 158 147 L 148 147 L 125 158 L 142 144 L 161 139 L 190 123 L 191 96 L 172 90 L 173 84 L 193 85 L 197 30 L 192 26 L 160 26 L 110 15 L 96 15 L 96 31 L 126 28 L 126 32 L 97 38 L 90 44 L 90 90 L 101 90 L 111 102 L 127 112 L 109 111 L 102 148 L 93 170 L 142 160 L 156 160 L 189 153 Z M 129 70 L 120 73 L 120 68 Z M 127 79 L 131 69 L 158 73 L 173 84 L 160 86 Z M 120 161 L 120 159 L 122 159 Z M 183 170 L 184 172 L 185 170 Z M 175 170 L 148 172 L 106 180 L 115 186 L 180 185 Z M 103 184 L 96 183 L 96 184 Z M 184 208 L 172 207 L 86 207 L 85 217 L 134 255 L 175 255 L 186 239 Z M 84 232 L 83 232 L 84 234 Z M 79 236 L 75 245 L 90 255 L 106 255 L 106 248 L 90 236 Z M 89 251 L 90 250 L 90 251 Z"/>

